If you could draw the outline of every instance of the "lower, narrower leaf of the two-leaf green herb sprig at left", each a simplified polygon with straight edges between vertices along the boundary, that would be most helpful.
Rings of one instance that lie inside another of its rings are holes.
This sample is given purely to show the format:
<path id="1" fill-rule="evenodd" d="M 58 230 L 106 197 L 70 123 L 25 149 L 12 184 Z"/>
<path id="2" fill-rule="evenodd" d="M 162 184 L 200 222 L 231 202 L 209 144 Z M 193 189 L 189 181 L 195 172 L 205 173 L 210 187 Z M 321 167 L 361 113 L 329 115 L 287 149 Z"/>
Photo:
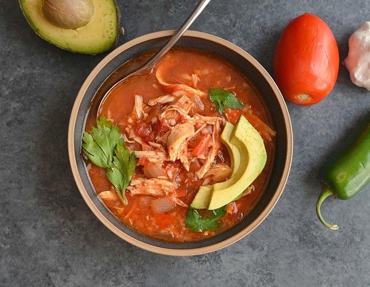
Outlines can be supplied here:
<path id="1" fill-rule="evenodd" d="M 118 197 L 124 205 L 126 205 L 124 193 L 127 186 L 130 184 L 136 164 L 137 159 L 135 153 L 131 152 L 130 154 L 129 149 L 125 147 L 124 143 L 117 144 L 113 162 L 106 170 L 106 176 L 113 184 Z"/>

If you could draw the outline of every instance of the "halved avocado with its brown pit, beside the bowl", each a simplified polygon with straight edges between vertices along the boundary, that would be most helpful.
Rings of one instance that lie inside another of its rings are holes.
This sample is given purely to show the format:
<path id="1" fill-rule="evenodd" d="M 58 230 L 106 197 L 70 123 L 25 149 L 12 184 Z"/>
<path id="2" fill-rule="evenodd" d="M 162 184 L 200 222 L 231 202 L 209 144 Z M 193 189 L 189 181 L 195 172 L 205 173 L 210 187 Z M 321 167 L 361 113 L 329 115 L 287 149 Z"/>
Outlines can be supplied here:
<path id="1" fill-rule="evenodd" d="M 18 2 L 35 33 L 59 48 L 96 55 L 110 50 L 117 43 L 120 12 L 115 0 Z M 81 13 L 84 7 L 87 11 Z"/>

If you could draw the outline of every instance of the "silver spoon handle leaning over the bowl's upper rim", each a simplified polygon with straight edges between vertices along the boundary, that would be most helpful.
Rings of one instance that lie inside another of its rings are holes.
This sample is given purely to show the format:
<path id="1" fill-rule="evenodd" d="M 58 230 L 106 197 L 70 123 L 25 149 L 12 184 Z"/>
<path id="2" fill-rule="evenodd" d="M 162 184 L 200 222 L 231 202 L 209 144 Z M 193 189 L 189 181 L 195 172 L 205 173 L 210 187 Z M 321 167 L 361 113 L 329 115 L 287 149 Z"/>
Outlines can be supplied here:
<path id="1" fill-rule="evenodd" d="M 203 11 L 205 6 L 210 2 L 211 0 L 201 0 L 196 5 L 194 10 L 191 12 L 191 14 L 187 17 L 184 24 L 175 32 L 175 34 L 171 37 L 171 39 L 162 47 L 161 50 L 159 50 L 147 63 L 140 68 L 140 70 L 147 70 L 149 68 L 153 68 L 157 61 L 159 61 L 163 55 L 165 55 L 172 46 L 175 45 L 175 43 L 183 36 L 185 31 L 190 27 L 190 25 L 194 22 L 194 20 L 199 16 L 199 14 Z"/>

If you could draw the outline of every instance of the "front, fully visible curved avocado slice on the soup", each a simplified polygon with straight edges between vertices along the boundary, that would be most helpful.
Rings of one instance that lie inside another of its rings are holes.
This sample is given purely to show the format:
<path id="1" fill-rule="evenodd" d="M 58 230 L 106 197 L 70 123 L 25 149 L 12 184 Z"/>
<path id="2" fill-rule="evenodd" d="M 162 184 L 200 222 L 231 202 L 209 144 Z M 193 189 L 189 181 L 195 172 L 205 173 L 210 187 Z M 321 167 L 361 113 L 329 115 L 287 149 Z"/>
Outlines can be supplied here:
<path id="1" fill-rule="evenodd" d="M 241 115 L 231 135 L 230 143 L 243 156 L 235 174 L 227 181 L 213 185 L 209 210 L 218 209 L 237 198 L 260 175 L 267 161 L 267 152 L 260 133 Z"/>

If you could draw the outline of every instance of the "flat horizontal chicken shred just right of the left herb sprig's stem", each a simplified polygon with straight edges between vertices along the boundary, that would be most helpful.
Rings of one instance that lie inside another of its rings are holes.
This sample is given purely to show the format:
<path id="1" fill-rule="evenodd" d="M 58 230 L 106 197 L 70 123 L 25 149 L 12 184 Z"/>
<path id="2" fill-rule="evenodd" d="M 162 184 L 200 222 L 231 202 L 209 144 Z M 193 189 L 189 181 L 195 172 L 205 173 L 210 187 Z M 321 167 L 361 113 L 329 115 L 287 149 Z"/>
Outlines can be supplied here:
<path id="1" fill-rule="evenodd" d="M 132 178 L 127 190 L 132 195 L 165 196 L 175 192 L 176 183 L 160 178 Z"/>

